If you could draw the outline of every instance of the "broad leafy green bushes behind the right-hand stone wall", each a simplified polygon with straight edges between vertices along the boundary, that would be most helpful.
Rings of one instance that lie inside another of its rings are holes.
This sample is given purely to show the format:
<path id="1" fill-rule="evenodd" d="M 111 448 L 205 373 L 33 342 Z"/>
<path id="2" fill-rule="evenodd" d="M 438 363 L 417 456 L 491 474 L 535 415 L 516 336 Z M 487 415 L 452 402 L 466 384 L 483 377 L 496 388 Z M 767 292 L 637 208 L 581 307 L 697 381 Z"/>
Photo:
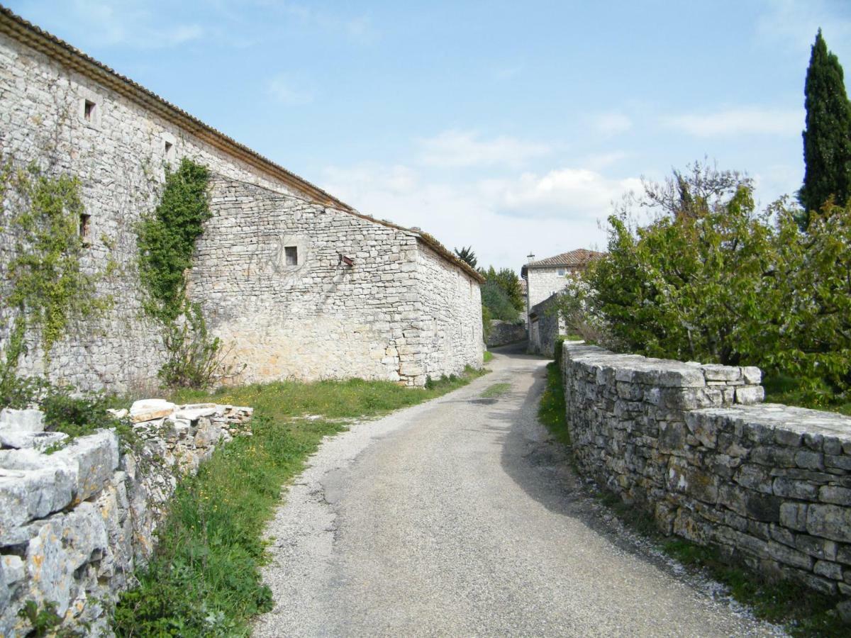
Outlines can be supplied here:
<path id="1" fill-rule="evenodd" d="M 803 233 L 799 211 L 757 212 L 751 191 L 700 166 L 646 185 L 661 214 L 609 218 L 608 254 L 569 284 L 564 316 L 613 350 L 757 365 L 830 402 L 851 389 L 851 208 L 825 205 Z"/>

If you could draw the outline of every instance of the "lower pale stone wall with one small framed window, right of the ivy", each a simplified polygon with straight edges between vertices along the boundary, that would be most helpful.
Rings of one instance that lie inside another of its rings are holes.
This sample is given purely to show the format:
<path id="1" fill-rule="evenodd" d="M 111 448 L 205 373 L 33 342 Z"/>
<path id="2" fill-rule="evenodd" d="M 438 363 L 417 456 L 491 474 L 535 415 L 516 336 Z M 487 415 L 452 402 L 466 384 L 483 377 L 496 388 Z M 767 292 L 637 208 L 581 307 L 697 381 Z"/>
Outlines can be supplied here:
<path id="1" fill-rule="evenodd" d="M 211 209 L 190 296 L 247 364 L 242 380 L 423 385 L 481 366 L 478 283 L 416 233 L 222 176 Z"/>

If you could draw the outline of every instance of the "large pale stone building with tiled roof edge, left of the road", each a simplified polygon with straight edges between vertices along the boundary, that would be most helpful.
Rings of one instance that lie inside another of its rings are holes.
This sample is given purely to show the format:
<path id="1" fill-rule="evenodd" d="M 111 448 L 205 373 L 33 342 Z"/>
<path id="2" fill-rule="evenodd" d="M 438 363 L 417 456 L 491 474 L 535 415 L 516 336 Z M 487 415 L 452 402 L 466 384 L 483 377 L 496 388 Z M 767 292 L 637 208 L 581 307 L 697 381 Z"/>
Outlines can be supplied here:
<path id="1" fill-rule="evenodd" d="M 182 157 L 212 175 L 190 296 L 242 380 L 422 385 L 482 363 L 482 277 L 433 237 L 358 213 L 3 8 L 0 151 L 77 177 L 83 267 L 117 265 L 100 282 L 109 315 L 72 327 L 47 370 L 30 335 L 21 373 L 117 391 L 156 381 L 163 342 L 142 311 L 135 229 Z M 13 246 L 3 230 L 0 275 Z M 0 350 L 11 319 L 0 304 Z"/>

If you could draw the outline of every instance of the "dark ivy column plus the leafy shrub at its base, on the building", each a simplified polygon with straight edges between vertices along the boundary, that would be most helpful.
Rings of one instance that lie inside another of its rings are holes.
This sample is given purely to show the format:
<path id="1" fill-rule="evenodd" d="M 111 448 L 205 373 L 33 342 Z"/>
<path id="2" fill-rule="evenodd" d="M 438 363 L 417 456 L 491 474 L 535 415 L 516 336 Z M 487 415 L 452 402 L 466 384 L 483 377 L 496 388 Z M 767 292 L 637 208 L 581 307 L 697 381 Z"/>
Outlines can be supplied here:
<path id="1" fill-rule="evenodd" d="M 186 294 L 186 273 L 209 209 L 209 171 L 184 158 L 166 168 L 163 196 L 139 225 L 139 276 L 147 293 L 145 310 L 163 326 L 168 359 L 160 369 L 166 385 L 204 387 L 227 376 L 226 352 L 211 338 L 201 306 Z"/>

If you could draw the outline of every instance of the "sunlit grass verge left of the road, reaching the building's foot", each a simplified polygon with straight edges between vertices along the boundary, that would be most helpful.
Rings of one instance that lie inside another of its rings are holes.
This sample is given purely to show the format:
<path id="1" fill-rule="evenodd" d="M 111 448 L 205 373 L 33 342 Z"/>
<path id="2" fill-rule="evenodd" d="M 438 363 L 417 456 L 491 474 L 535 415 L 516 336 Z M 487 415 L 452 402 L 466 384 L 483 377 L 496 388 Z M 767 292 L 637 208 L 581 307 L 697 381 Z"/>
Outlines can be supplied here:
<path id="1" fill-rule="evenodd" d="M 248 635 L 248 619 L 271 609 L 260 582 L 261 534 L 281 486 L 304 467 L 323 436 L 345 426 L 330 419 L 377 416 L 441 396 L 479 375 L 470 370 L 431 387 L 385 381 L 278 382 L 208 394 L 180 390 L 174 402 L 254 407 L 254 436 L 219 447 L 197 476 L 180 482 L 158 530 L 159 544 L 139 587 L 121 595 L 113 618 L 120 636 Z M 326 419 L 299 419 L 322 414 Z"/>

